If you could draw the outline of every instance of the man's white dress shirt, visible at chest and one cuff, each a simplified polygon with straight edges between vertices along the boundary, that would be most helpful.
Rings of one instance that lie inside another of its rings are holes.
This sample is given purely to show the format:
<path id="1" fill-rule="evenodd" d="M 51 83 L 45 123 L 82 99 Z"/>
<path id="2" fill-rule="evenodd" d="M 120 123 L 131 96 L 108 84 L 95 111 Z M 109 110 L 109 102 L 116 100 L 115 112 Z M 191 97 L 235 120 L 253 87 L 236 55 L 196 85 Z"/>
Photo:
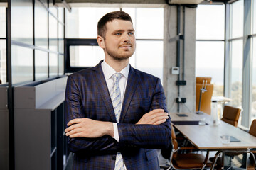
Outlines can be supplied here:
<path id="1" fill-rule="evenodd" d="M 102 71 L 105 77 L 105 80 L 107 82 L 107 89 L 110 92 L 110 89 L 112 87 L 112 84 L 114 83 L 113 79 L 111 78 L 113 74 L 117 73 L 112 67 L 110 67 L 105 60 L 102 62 Z M 119 80 L 119 89 L 121 92 L 121 106 L 122 102 L 124 101 L 124 93 L 125 93 L 125 88 L 127 86 L 127 79 L 128 79 L 128 74 L 129 74 L 129 64 L 127 64 L 127 67 L 124 67 L 119 73 L 122 74 L 121 79 Z M 117 123 L 113 123 L 114 126 L 114 139 L 119 142 L 119 133 L 118 133 L 118 128 L 117 128 Z"/>

